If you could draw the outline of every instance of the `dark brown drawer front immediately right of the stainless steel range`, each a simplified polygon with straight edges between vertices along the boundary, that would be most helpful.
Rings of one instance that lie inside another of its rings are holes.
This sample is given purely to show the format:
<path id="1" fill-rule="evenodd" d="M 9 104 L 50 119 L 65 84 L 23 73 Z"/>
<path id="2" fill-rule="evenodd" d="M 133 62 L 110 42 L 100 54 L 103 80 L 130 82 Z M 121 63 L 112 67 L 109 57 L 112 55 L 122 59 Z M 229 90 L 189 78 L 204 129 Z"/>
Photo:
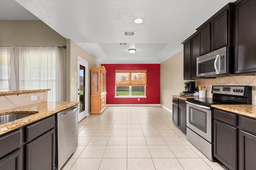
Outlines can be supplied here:
<path id="1" fill-rule="evenodd" d="M 237 121 L 236 121 L 237 115 L 235 115 L 235 114 L 214 109 L 213 117 L 214 117 L 214 119 L 224 121 L 226 123 L 229 123 L 230 125 L 234 125 L 234 126 L 237 125 Z"/>

